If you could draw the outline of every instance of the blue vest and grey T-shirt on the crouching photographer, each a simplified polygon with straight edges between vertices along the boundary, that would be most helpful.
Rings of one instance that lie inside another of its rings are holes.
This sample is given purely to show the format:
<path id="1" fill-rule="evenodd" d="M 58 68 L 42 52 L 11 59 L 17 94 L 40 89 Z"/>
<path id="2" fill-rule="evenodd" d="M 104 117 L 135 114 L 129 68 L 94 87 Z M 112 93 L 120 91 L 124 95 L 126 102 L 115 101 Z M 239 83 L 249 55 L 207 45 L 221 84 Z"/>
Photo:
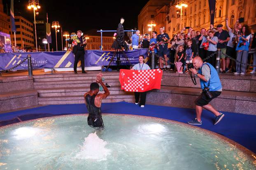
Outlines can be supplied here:
<path id="1" fill-rule="evenodd" d="M 221 81 L 216 69 L 210 63 L 203 63 L 198 70 L 200 75 L 204 75 L 207 82 L 200 79 L 201 88 L 209 87 L 209 91 L 222 91 Z"/>

